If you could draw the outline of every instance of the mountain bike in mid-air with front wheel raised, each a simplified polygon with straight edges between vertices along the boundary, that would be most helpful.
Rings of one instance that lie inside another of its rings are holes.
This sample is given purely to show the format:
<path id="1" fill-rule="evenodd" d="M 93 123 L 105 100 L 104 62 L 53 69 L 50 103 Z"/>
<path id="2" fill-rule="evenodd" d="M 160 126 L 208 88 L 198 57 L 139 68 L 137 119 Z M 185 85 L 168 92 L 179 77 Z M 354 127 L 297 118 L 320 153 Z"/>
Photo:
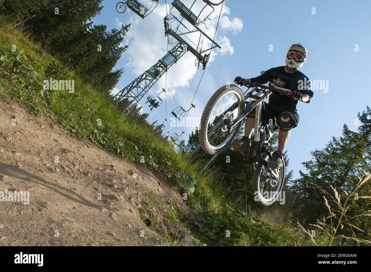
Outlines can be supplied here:
<path id="1" fill-rule="evenodd" d="M 245 82 L 244 86 L 248 87 L 245 94 L 239 86 L 229 84 L 211 96 L 201 117 L 198 140 L 207 154 L 223 152 L 238 134 L 244 119 L 255 109 L 254 140 L 247 158 L 255 168 L 253 183 L 257 200 L 270 206 L 279 199 L 285 180 L 285 161 L 279 169 L 267 167 L 268 159 L 272 158 L 269 140 L 279 127 L 265 120 L 263 102 L 272 92 L 285 96 L 289 93 L 259 83 Z"/>

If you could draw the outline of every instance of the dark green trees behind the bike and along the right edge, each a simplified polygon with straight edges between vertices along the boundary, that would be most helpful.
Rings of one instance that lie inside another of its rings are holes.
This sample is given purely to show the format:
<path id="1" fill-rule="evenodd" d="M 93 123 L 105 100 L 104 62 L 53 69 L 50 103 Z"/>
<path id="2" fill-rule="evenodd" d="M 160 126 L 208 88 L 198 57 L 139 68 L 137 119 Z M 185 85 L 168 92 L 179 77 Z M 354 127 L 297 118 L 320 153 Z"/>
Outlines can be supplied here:
<path id="1" fill-rule="evenodd" d="M 306 171 L 299 171 L 300 177 L 293 179 L 292 170 L 286 174 L 285 205 L 272 205 L 262 208 L 254 201 L 254 188 L 252 178 L 254 169 L 247 164 L 245 158 L 232 148 L 227 149 L 219 155 L 210 169 L 214 173 L 214 179 L 224 191 L 224 196 L 236 210 L 249 209 L 257 213 L 283 215 L 283 220 L 290 221 L 294 226 L 300 223 L 305 229 L 321 229 L 318 221 L 326 225 L 336 226 L 341 223 L 337 235 L 346 237 L 357 237 L 371 241 L 371 183 L 366 182 L 356 193 L 352 194 L 359 182 L 371 174 L 371 109 L 367 108 L 358 113 L 355 120 L 356 131 L 349 129 L 344 124 L 342 135 L 332 137 L 326 146 L 311 152 L 312 159 L 302 163 Z M 242 131 L 241 131 L 242 132 Z M 273 138 L 273 148 L 277 142 Z M 198 131 L 189 135 L 188 142 L 180 144 L 180 151 L 189 154 L 198 145 Z M 229 156 L 230 163 L 226 163 Z M 201 154 L 196 161 L 201 165 L 210 159 L 209 155 Z M 285 156 L 286 168 L 289 164 Z M 335 191 L 337 193 L 335 193 Z M 337 196 L 340 206 L 337 204 Z M 347 200 L 347 197 L 349 200 Z M 326 198 L 326 200 L 325 200 Z M 326 204 L 328 202 L 331 210 Z M 335 217 L 336 216 L 336 217 Z M 273 216 L 274 217 L 274 216 Z M 337 219 L 336 219 L 337 218 Z M 332 220 L 332 222 L 331 222 Z M 358 245 L 356 240 L 348 242 L 349 245 Z"/>

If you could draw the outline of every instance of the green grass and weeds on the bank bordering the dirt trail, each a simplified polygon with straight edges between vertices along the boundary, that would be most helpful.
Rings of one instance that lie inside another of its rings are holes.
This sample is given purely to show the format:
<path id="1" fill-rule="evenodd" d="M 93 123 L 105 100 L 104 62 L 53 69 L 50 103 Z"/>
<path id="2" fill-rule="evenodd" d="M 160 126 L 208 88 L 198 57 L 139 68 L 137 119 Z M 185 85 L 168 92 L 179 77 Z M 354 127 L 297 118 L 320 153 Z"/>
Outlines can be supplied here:
<path id="1" fill-rule="evenodd" d="M 200 162 L 188 161 L 154 131 L 122 114 L 108 96 L 65 68 L 28 35 L 6 23 L 1 23 L 0 28 L 0 95 L 13 99 L 35 115 L 48 116 L 71 135 L 91 141 L 123 160 L 140 164 L 144 156 L 146 167 L 170 179 L 180 192 L 185 191 L 185 173 L 196 176 Z M 12 51 L 13 45 L 16 51 Z M 43 80 L 50 77 L 74 80 L 75 92 L 43 91 Z M 207 172 L 197 179 L 197 185 L 187 202 L 198 212 L 197 221 L 177 209 L 167 212 L 165 219 L 170 226 L 175 221 L 183 221 L 185 225 L 191 222 L 194 236 L 210 245 L 301 244 L 302 230 L 297 227 L 276 227 L 251 214 L 243 216 L 233 211 L 230 202 L 223 198 L 226 188 L 217 173 Z M 152 223 L 155 226 L 156 220 Z M 230 230 L 230 237 L 225 236 L 226 230 Z M 172 245 L 178 245 L 170 236 L 165 238 Z"/>

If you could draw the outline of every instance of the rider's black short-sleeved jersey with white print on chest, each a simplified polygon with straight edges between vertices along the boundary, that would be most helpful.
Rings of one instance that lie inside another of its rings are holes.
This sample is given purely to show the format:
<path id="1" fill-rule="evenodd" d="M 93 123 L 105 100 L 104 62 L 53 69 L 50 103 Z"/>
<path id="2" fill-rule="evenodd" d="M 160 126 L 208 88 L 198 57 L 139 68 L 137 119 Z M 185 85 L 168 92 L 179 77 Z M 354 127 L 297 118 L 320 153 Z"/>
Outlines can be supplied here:
<path id="1" fill-rule="evenodd" d="M 296 70 L 295 73 L 288 73 L 284 70 L 285 66 L 279 66 L 269 69 L 263 75 L 252 78 L 251 82 L 267 83 L 269 86 L 280 89 L 286 92 L 301 92 L 313 97 L 309 79 L 302 72 Z M 309 100 L 310 101 L 310 100 Z M 306 103 L 309 103 L 306 102 Z M 269 96 L 269 106 L 276 110 L 293 111 L 296 109 L 298 101 L 293 101 L 287 96 L 282 96 L 278 92 L 273 91 Z"/>

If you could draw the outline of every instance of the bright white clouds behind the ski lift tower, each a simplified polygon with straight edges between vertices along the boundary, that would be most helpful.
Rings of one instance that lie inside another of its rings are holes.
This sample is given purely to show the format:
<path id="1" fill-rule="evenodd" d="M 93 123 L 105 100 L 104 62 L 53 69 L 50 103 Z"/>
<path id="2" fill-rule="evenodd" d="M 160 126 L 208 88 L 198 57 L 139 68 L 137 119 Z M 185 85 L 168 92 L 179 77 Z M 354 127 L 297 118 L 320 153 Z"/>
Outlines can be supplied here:
<path id="1" fill-rule="evenodd" d="M 186 6 L 190 7 L 193 0 L 184 0 L 183 2 Z M 192 8 L 193 12 L 198 14 L 199 10 L 201 10 L 204 5 L 205 3 L 203 1 L 197 0 L 196 4 Z M 172 6 L 168 4 L 167 10 L 169 11 L 171 7 Z M 196 11 L 196 7 L 198 11 Z M 211 20 L 206 20 L 207 25 L 203 24 L 200 26 L 200 28 L 211 37 L 211 39 L 215 34 L 220 14 L 220 7 L 221 6 L 215 7 L 215 11 L 210 15 Z M 129 59 L 127 66 L 137 76 L 141 75 L 167 53 L 167 37 L 164 36 L 163 23 L 167 10 L 165 4 L 159 4 L 145 20 L 134 14 L 131 10 L 127 10 L 127 12 L 124 13 L 124 16 L 127 18 L 125 23 L 131 23 L 131 27 L 123 41 L 124 44 L 129 45 L 128 50 L 125 52 L 125 56 Z M 175 9 L 172 10 L 172 13 L 174 10 Z M 211 8 L 206 7 L 201 17 L 206 16 L 206 14 L 209 14 L 210 12 Z M 177 12 L 175 11 L 174 13 Z M 228 33 L 232 32 L 233 34 L 236 34 L 242 30 L 242 20 L 238 18 L 230 20 L 226 13 L 227 8 L 224 6 L 221 12 L 218 33 L 216 35 L 216 41 L 221 46 L 221 49 L 213 49 L 209 63 L 213 62 L 218 55 L 222 56 L 226 53 L 232 55 L 234 50 L 228 38 Z M 169 17 L 172 16 L 169 14 Z M 121 24 L 124 24 L 119 18 L 116 18 L 115 21 L 117 27 L 121 27 Z M 184 21 L 185 20 L 183 20 L 183 22 Z M 187 24 L 187 26 L 190 26 L 188 22 L 184 23 Z M 175 25 L 172 25 L 173 29 L 174 26 Z M 206 27 L 208 29 L 206 29 Z M 199 35 L 192 34 L 187 35 L 187 37 L 189 37 L 194 43 L 198 43 Z M 211 42 L 204 38 L 203 49 L 209 48 L 210 46 Z M 169 45 L 168 50 L 170 49 L 171 46 Z M 188 52 L 168 70 L 166 81 L 167 99 L 173 98 L 177 88 L 190 86 L 190 82 L 197 72 L 194 66 L 195 60 L 196 57 L 192 53 Z M 200 66 L 200 69 L 202 69 L 202 65 Z M 162 76 L 156 83 L 155 87 L 151 89 L 150 95 L 157 95 L 162 91 L 162 88 L 165 88 L 165 76 Z M 163 94 L 161 94 L 161 98 L 162 97 L 164 97 Z"/>

